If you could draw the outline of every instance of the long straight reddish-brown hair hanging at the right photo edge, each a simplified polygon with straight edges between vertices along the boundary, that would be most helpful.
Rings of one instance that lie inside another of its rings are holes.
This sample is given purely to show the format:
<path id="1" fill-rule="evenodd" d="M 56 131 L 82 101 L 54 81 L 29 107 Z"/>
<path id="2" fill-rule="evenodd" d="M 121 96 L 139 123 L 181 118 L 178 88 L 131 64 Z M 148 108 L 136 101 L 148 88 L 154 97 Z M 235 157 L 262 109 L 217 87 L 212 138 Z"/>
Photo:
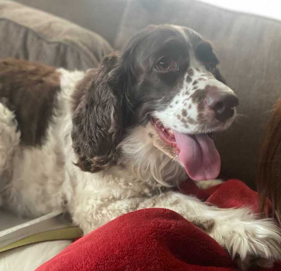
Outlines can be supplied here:
<path id="1" fill-rule="evenodd" d="M 276 214 L 281 222 L 281 99 L 275 104 L 260 146 L 256 183 L 261 210 L 266 211 L 270 199 L 272 215 Z"/>

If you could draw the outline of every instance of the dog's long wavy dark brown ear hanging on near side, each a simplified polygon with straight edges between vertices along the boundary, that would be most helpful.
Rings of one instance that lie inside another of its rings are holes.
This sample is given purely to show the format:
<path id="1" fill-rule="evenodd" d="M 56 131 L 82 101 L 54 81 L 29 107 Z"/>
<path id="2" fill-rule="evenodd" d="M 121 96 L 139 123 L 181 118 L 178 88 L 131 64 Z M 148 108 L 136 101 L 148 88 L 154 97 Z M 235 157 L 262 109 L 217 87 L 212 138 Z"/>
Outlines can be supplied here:
<path id="1" fill-rule="evenodd" d="M 105 57 L 100 67 L 88 71 L 77 85 L 80 97 L 74 96 L 79 102 L 72 118 L 71 138 L 78 156 L 76 165 L 84 171 L 98 172 L 118 161 L 128 107 L 128 85 L 122 84 L 119 62 L 116 54 Z"/>

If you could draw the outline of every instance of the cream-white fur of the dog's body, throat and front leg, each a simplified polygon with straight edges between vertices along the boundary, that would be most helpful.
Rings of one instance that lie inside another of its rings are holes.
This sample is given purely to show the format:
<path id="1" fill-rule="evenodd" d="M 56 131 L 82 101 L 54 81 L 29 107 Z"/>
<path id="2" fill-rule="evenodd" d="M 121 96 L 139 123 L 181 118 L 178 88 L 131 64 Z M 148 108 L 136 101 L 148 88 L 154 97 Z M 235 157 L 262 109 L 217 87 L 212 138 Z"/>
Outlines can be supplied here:
<path id="1" fill-rule="evenodd" d="M 208 233 L 231 255 L 239 255 L 243 268 L 249 257 L 263 259 L 261 266 L 280 259 L 280 232 L 271 220 L 257 220 L 246 208 L 224 210 L 177 192 L 158 193 L 158 188 L 174 186 L 187 176 L 177 161 L 159 150 L 161 142 L 149 137 L 150 132 L 155 133 L 151 124 L 128 131 L 120 143 L 123 155 L 116 166 L 95 174 L 75 166 L 70 96 L 84 74 L 58 71 L 58 107 L 42 147 L 19 145 L 14 115 L 0 104 L 0 173 L 5 206 L 28 216 L 69 211 L 85 233 L 130 211 L 168 208 L 195 224 L 214 221 Z"/>

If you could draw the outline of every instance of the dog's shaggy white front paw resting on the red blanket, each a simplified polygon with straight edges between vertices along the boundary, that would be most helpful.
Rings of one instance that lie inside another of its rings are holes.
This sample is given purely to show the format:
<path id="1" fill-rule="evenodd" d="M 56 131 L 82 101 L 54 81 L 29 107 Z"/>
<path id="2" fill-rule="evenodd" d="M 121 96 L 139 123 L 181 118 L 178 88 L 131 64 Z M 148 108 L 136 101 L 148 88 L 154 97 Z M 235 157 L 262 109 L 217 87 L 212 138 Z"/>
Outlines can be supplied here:
<path id="1" fill-rule="evenodd" d="M 224 246 L 241 270 L 270 268 L 281 259 L 281 232 L 269 219 L 244 219 L 218 225 L 214 238 Z"/>

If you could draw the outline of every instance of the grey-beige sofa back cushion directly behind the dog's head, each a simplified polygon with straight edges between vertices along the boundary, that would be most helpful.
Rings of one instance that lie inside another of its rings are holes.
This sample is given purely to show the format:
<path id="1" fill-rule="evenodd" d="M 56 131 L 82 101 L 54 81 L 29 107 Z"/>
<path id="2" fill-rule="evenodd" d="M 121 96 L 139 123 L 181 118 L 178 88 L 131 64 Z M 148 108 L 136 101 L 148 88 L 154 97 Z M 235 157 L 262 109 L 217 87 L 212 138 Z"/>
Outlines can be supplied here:
<path id="1" fill-rule="evenodd" d="M 218 136 L 222 173 L 254 186 L 255 158 L 272 105 L 281 93 L 281 23 L 184 0 L 130 0 L 115 47 L 148 24 L 173 23 L 213 43 L 220 69 L 240 105 L 232 127 Z"/>

